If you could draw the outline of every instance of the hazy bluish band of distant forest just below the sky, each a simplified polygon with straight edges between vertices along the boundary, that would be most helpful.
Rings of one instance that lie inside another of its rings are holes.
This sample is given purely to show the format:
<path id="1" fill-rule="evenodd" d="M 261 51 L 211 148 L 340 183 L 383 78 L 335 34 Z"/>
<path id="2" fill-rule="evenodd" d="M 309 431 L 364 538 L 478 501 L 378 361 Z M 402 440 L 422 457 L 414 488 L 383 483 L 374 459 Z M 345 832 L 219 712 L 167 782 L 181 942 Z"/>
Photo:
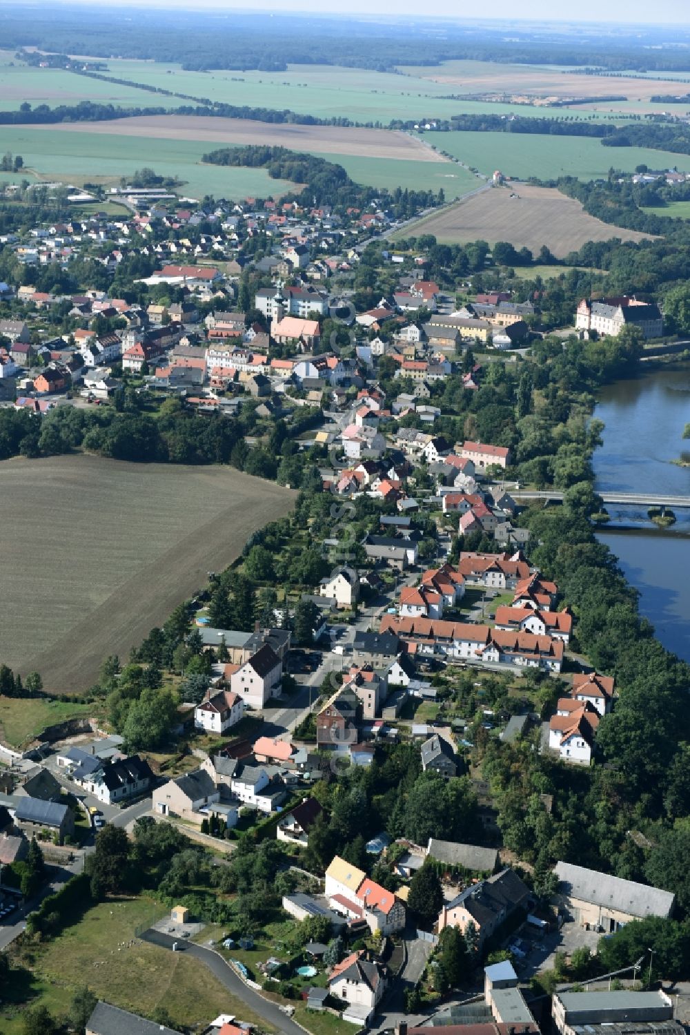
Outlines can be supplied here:
<path id="1" fill-rule="evenodd" d="M 339 64 L 356 68 L 391 70 L 397 65 L 437 65 L 441 61 L 469 59 L 517 64 L 557 64 L 595 71 L 684 71 L 690 58 L 681 46 L 688 34 L 649 27 L 644 46 L 634 27 L 618 25 L 616 33 L 594 26 L 520 27 L 515 24 L 459 23 L 436 20 L 431 30 L 423 18 L 381 21 L 274 13 L 270 19 L 246 12 L 156 11 L 123 8 L 90 10 L 57 5 L 33 9 L 4 5 L 0 12 L 3 47 L 96 58 L 139 58 L 181 62 L 185 68 L 258 68 L 284 70 L 289 64 Z"/>

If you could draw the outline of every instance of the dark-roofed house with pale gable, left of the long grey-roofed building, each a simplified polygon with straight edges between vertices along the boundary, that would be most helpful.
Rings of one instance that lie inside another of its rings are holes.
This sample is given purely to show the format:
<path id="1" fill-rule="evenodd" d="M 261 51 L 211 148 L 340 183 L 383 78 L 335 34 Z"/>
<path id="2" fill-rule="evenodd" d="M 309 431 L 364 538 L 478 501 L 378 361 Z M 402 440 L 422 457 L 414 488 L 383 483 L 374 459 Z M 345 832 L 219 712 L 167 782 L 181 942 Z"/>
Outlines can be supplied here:
<path id="1" fill-rule="evenodd" d="M 527 914 L 532 894 L 510 868 L 464 888 L 441 908 L 439 930 L 458 927 L 462 934 L 473 923 L 479 935 L 479 947 L 518 910 Z"/>

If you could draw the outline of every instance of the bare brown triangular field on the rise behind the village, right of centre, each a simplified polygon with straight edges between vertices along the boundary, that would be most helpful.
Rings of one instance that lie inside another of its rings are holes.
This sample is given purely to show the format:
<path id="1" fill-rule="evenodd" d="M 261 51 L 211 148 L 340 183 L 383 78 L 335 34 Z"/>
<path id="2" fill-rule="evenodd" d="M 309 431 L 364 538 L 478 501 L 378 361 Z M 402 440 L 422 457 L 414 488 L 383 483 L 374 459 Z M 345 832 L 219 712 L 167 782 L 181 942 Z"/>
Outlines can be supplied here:
<path id="1" fill-rule="evenodd" d="M 463 243 L 485 240 L 509 241 L 535 254 L 545 244 L 559 259 L 588 241 L 649 239 L 649 234 L 622 230 L 589 215 L 574 198 L 552 187 L 516 184 L 519 197 L 507 187 L 494 187 L 460 201 L 441 212 L 404 228 L 401 237 L 433 234 L 439 241 Z"/>

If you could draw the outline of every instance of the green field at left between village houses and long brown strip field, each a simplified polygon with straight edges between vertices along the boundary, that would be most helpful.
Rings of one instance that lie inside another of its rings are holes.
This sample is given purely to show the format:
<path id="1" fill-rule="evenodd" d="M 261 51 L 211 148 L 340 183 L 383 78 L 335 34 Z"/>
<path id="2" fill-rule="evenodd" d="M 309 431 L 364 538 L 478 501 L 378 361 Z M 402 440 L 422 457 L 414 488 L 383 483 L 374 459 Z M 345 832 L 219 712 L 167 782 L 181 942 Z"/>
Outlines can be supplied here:
<path id="1" fill-rule="evenodd" d="M 116 182 L 142 166 L 150 166 L 161 176 L 184 180 L 181 193 L 194 198 L 206 194 L 232 200 L 248 195 L 277 197 L 292 187 L 284 180 L 271 179 L 263 169 L 202 165 L 202 155 L 212 150 L 212 145 L 203 141 L 96 135 L 88 131 L 86 123 L 84 132 L 3 126 L 1 136 L 4 150 L 21 154 L 25 166 L 49 180 Z M 7 175 L 11 182 L 19 182 L 16 174 Z"/>

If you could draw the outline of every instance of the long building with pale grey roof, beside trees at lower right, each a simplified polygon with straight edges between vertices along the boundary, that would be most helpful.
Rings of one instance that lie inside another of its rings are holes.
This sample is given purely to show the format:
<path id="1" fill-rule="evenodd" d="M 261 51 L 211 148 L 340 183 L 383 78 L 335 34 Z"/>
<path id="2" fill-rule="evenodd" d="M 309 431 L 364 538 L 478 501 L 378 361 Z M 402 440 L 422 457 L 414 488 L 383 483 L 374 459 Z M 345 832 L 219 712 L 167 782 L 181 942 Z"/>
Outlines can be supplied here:
<path id="1" fill-rule="evenodd" d="M 676 896 L 672 891 L 636 884 L 610 874 L 557 862 L 559 888 L 554 904 L 567 911 L 575 923 L 612 934 L 633 920 L 650 916 L 669 917 Z"/>

